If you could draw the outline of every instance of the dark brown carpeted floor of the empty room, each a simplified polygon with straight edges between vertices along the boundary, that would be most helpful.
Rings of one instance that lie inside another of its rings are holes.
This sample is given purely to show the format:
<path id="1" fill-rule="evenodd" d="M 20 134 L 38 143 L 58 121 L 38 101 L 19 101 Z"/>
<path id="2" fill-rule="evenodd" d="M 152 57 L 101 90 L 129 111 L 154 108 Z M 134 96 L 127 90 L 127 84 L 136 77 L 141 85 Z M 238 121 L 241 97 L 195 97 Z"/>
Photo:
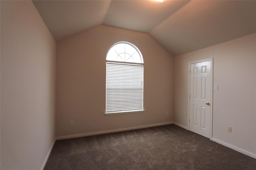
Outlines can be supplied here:
<path id="1" fill-rule="evenodd" d="M 256 159 L 176 125 L 56 141 L 45 170 L 256 170 Z"/>

